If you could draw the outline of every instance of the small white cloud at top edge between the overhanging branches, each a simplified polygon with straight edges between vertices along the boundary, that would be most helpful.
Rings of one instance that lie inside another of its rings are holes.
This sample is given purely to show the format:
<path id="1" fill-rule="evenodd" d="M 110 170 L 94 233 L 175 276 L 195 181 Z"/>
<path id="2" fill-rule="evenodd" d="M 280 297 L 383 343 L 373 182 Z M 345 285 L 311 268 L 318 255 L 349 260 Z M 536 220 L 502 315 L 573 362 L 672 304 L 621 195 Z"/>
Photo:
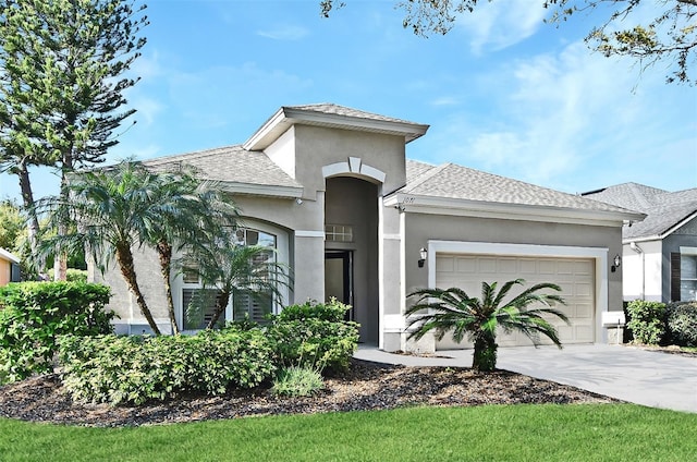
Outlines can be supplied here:
<path id="1" fill-rule="evenodd" d="M 475 54 L 484 49 L 508 48 L 543 26 L 548 10 L 531 3 L 530 0 L 481 2 L 473 13 L 463 13 L 457 19 L 457 29 L 469 36 Z"/>

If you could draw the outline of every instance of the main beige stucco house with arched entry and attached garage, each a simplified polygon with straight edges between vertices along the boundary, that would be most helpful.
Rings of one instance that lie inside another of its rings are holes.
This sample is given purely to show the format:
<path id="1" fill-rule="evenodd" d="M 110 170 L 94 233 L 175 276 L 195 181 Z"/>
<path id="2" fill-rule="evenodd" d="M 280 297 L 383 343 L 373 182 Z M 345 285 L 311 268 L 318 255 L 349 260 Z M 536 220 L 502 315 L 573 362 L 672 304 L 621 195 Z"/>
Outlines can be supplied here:
<path id="1" fill-rule="evenodd" d="M 405 146 L 428 125 L 323 104 L 282 107 L 242 145 L 144 162 L 191 165 L 234 194 L 241 240 L 278 251 L 294 273 L 285 303 L 337 296 L 353 306 L 363 342 L 387 351 L 452 346 L 428 338 L 406 342 L 406 295 L 419 288 L 525 278 L 557 282 L 572 319 L 564 343 L 602 342 L 602 313 L 622 309 L 622 223 L 644 216 L 623 208 L 453 163 L 407 160 Z M 421 251 L 425 262 L 421 259 Z M 154 253 L 136 269 L 162 331 L 169 331 Z M 121 316 L 119 331 L 148 331 L 118 270 L 106 275 Z M 173 275 L 178 319 L 199 281 Z M 259 318 L 280 306 L 225 313 Z M 516 344 L 508 338 L 503 344 Z"/>

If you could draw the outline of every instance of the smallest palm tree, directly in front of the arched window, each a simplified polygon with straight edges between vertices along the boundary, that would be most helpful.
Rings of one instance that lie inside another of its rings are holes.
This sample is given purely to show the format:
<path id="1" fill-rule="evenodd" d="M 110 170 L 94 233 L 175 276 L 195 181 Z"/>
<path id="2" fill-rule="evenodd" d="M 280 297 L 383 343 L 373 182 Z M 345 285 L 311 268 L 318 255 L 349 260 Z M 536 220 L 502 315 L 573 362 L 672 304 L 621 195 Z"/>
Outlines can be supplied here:
<path id="1" fill-rule="evenodd" d="M 285 265 L 277 263 L 276 250 L 265 245 L 234 243 L 235 229 L 224 236 L 199 243 L 189 250 L 182 265 L 195 272 L 206 288 L 215 288 L 215 309 L 206 328 L 212 329 L 224 313 L 230 297 L 237 304 L 242 295 L 257 301 L 281 302 L 281 289 L 290 284 Z"/>

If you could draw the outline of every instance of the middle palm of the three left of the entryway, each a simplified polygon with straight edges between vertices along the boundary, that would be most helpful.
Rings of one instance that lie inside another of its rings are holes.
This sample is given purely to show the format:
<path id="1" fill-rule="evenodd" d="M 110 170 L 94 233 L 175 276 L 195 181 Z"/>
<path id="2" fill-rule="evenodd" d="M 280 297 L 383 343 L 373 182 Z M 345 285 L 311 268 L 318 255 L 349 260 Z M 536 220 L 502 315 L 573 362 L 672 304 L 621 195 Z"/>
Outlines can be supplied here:
<path id="1" fill-rule="evenodd" d="M 170 283 L 172 255 L 192 242 L 220 234 L 222 227 L 234 227 L 239 210 L 216 183 L 198 180 L 193 170 L 160 175 L 159 219 L 150 222 L 145 239 L 158 253 L 170 326 L 176 335 L 180 330 Z"/>

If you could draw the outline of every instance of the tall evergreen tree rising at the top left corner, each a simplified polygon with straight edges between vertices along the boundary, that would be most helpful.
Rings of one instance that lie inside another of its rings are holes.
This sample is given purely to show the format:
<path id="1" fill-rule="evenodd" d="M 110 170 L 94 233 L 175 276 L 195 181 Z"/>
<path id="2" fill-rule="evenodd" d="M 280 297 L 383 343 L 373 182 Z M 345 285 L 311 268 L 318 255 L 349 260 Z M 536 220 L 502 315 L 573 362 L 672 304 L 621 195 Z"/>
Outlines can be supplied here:
<path id="1" fill-rule="evenodd" d="M 66 174 L 103 161 L 135 112 L 122 109 L 123 92 L 137 82 L 125 74 L 146 42 L 144 9 L 124 0 L 0 0 L 0 165 L 19 175 L 29 214 L 29 167 L 54 167 L 64 196 Z M 38 231 L 35 215 L 29 229 Z"/>

